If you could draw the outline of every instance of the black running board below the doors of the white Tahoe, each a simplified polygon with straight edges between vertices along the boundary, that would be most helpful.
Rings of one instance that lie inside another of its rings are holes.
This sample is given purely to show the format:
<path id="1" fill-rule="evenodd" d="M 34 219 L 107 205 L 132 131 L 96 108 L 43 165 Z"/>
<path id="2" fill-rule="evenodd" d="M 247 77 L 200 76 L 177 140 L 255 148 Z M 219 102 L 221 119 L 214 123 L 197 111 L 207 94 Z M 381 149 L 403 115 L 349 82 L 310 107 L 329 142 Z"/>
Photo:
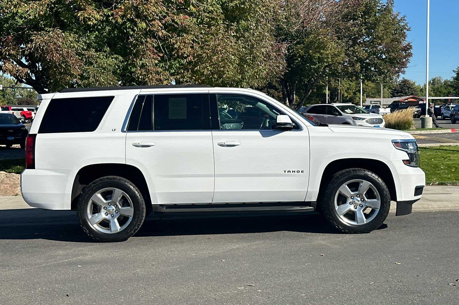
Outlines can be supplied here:
<path id="1" fill-rule="evenodd" d="M 314 207 L 289 202 L 286 204 L 272 203 L 225 203 L 225 204 L 177 204 L 153 205 L 153 211 L 158 213 L 188 213 L 188 212 L 313 212 Z"/>

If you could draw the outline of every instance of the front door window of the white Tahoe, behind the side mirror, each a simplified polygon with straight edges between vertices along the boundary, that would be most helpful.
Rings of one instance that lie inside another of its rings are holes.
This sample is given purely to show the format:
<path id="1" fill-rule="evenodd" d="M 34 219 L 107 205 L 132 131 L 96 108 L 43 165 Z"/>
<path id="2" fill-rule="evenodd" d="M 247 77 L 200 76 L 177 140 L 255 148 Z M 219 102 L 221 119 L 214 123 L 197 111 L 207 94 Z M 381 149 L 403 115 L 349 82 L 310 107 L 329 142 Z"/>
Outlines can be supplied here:
<path id="1" fill-rule="evenodd" d="M 271 130 L 277 116 L 285 114 L 259 98 L 239 94 L 217 94 L 217 106 L 222 130 Z"/>

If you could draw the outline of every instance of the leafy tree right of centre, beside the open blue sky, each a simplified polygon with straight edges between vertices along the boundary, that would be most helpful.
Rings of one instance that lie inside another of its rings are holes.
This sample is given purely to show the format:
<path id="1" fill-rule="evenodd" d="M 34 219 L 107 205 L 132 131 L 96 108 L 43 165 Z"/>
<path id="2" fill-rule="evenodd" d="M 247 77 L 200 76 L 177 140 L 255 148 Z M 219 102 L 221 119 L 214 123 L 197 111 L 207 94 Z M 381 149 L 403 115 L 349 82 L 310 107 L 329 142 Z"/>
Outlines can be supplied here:
<path id="1" fill-rule="evenodd" d="M 280 31 L 288 43 L 280 82 L 288 105 L 300 107 L 327 77 L 389 82 L 408 66 L 409 26 L 393 1 L 287 0 L 286 7 L 293 8 Z"/>

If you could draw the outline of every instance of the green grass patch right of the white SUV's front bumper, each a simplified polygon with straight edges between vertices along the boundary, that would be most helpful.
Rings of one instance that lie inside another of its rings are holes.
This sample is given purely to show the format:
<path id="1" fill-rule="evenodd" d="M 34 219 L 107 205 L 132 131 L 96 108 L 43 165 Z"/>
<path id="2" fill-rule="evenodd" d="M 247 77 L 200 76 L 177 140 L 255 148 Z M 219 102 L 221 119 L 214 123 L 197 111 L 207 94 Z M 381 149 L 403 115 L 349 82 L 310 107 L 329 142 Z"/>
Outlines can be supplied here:
<path id="1" fill-rule="evenodd" d="M 459 146 L 420 147 L 426 184 L 459 185 Z"/>

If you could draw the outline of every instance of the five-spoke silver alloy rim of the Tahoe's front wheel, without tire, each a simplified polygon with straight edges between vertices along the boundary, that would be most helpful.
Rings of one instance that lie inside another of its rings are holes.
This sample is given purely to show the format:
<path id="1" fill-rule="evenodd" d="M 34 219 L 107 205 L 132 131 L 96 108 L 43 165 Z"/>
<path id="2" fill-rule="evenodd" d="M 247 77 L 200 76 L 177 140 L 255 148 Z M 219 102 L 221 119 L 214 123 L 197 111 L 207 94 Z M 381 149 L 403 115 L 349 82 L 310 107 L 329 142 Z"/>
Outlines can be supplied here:
<path id="1" fill-rule="evenodd" d="M 362 179 L 350 180 L 335 195 L 335 209 L 341 222 L 362 225 L 372 221 L 381 207 L 375 185 Z"/>

